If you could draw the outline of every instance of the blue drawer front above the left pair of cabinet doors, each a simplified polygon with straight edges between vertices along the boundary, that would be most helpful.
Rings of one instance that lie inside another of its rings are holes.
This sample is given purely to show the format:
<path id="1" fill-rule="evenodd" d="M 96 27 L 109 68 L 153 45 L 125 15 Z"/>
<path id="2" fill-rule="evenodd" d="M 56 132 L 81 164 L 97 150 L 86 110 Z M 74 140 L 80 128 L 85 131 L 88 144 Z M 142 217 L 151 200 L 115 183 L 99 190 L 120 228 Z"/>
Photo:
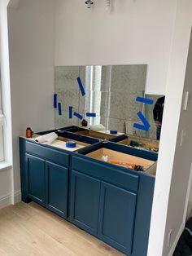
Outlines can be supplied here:
<path id="1" fill-rule="evenodd" d="M 61 166 L 69 165 L 69 154 L 67 152 L 59 152 L 52 148 L 46 148 L 37 143 L 26 141 L 26 151 L 33 153 L 39 157 L 46 158 Z"/>

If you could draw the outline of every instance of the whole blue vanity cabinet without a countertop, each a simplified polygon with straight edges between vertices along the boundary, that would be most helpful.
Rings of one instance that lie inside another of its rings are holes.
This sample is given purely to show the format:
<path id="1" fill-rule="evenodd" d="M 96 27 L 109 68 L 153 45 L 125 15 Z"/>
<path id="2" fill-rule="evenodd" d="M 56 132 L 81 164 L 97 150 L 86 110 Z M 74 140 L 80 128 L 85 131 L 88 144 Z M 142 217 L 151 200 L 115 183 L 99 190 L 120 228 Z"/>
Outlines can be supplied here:
<path id="1" fill-rule="evenodd" d="M 67 152 L 20 138 L 22 200 L 36 201 L 126 255 L 146 256 L 155 177 L 89 156 L 101 148 L 157 160 L 154 152 L 110 142 Z"/>

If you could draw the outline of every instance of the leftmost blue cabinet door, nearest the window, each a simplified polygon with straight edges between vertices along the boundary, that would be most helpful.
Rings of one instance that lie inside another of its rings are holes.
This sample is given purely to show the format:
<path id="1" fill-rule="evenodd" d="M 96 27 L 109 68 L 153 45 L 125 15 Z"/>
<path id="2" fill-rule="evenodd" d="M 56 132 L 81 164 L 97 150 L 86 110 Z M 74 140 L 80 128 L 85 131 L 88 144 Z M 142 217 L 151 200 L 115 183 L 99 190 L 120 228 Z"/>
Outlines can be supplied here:
<path id="1" fill-rule="evenodd" d="M 45 205 L 45 161 L 26 154 L 28 197 Z"/>

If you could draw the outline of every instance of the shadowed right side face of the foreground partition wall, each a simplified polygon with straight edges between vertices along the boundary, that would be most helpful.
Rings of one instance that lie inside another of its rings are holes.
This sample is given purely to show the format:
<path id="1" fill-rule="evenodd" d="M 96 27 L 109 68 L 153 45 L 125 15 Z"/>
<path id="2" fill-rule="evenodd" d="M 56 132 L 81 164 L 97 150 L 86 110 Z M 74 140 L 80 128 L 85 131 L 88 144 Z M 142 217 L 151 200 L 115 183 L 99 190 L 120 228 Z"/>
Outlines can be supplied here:
<path id="1" fill-rule="evenodd" d="M 189 6 L 192 11 L 192 4 Z M 188 16 L 189 19 L 191 19 Z M 190 26 L 191 28 L 191 26 Z M 187 26 L 187 29 L 190 29 Z M 186 31 L 185 31 L 186 32 Z M 181 227 L 181 223 L 185 224 L 185 214 L 187 204 L 187 188 L 190 176 L 191 164 L 192 164 L 192 35 L 190 37 L 190 50 L 188 55 L 187 68 L 185 73 L 185 86 L 183 92 L 183 99 L 181 104 L 181 116 L 179 121 L 179 128 L 177 134 L 177 146 L 174 157 L 173 169 L 172 169 L 172 183 L 168 198 L 168 214 L 166 220 L 166 229 L 164 236 L 164 254 L 168 251 L 166 241 L 168 241 L 168 232 L 172 229 L 172 238 L 177 236 L 177 232 Z M 185 101 L 185 93 L 189 91 L 190 98 L 188 108 L 183 110 Z M 181 134 L 183 133 L 183 143 L 181 145 Z M 192 170 L 191 170 L 192 171 Z M 191 180 L 190 180 L 191 182 Z M 191 201 L 191 198 L 190 198 Z M 183 219 L 184 218 L 184 219 Z M 174 240 L 173 240 L 174 241 Z M 171 242 L 173 242 L 171 241 Z"/>

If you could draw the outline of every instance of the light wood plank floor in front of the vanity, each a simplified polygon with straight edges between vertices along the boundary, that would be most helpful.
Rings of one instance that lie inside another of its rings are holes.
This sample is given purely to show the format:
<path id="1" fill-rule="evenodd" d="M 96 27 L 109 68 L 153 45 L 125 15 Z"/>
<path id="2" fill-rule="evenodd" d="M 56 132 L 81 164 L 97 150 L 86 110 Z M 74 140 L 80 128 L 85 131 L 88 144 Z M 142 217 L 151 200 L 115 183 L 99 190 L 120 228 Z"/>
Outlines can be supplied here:
<path id="1" fill-rule="evenodd" d="M 0 256 L 122 256 L 56 214 L 31 202 L 0 210 Z"/>

